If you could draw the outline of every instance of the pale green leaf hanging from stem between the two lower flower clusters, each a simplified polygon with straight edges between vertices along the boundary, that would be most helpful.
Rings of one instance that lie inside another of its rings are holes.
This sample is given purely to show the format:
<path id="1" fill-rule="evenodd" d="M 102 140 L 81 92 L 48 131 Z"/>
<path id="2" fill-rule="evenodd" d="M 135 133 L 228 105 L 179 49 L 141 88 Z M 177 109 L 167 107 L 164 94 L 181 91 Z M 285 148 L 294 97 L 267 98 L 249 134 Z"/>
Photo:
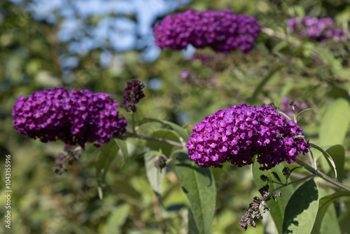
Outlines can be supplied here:
<path id="1" fill-rule="evenodd" d="M 148 151 L 144 154 L 147 178 L 151 184 L 153 191 L 155 192 L 155 195 L 157 195 L 158 198 L 160 198 L 160 193 L 162 191 L 162 181 L 165 177 L 166 170 L 166 168 L 160 170 L 160 168 L 157 168 L 154 165 L 155 161 L 158 160 L 160 156 L 163 156 L 163 154 L 158 151 Z"/>

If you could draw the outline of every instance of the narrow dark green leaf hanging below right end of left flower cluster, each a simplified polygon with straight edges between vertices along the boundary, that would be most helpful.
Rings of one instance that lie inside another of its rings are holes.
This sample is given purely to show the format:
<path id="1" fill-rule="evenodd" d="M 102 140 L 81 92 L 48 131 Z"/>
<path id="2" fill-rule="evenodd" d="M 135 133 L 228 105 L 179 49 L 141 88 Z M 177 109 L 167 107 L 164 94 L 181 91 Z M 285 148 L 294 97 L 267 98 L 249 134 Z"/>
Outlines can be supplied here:
<path id="1" fill-rule="evenodd" d="M 119 146 L 115 141 L 111 140 L 109 143 L 101 146 L 96 161 L 96 178 L 98 185 L 99 198 L 102 199 L 102 188 L 105 186 L 104 180 L 106 172 L 109 170 L 111 162 L 118 156 Z"/>

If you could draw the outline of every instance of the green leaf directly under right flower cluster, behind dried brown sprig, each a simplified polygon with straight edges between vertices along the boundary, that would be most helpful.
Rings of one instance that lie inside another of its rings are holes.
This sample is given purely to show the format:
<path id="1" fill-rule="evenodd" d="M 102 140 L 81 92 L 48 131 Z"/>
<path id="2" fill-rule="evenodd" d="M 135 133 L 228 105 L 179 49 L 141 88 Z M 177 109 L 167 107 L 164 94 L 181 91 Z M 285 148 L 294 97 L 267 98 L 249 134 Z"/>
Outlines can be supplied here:
<path id="1" fill-rule="evenodd" d="M 254 182 L 258 188 L 262 188 L 262 186 L 266 185 L 266 182 L 260 179 L 260 176 L 262 174 L 264 174 L 269 178 L 272 178 L 274 177 L 273 174 L 276 173 L 280 178 L 284 178 L 282 173 L 282 170 L 284 168 L 283 165 L 276 165 L 272 169 L 264 170 L 264 171 L 260 170 L 259 167 L 260 167 L 260 164 L 256 161 L 256 158 L 255 158 L 253 163 L 253 177 L 254 177 Z M 269 191 L 272 191 L 275 188 L 278 188 L 279 186 L 281 185 L 269 184 Z M 276 225 L 277 230 L 279 230 L 279 233 L 282 233 L 284 210 L 286 209 L 286 205 L 288 203 L 289 198 L 294 193 L 294 188 L 293 186 L 286 186 L 284 188 L 281 188 L 279 191 L 281 191 L 282 197 L 277 198 L 276 201 L 269 200 L 266 203 L 267 203 L 267 206 L 271 209 L 269 212 L 271 213 L 272 219 L 274 219 L 274 223 Z"/>

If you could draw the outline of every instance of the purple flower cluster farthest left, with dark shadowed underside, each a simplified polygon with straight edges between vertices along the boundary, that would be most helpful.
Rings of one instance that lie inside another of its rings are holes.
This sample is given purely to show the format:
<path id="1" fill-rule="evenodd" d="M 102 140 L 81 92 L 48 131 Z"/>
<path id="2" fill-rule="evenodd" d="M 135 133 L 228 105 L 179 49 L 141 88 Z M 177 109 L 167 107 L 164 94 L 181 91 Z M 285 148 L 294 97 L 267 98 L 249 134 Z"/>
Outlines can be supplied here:
<path id="1" fill-rule="evenodd" d="M 21 96 L 13 106 L 15 129 L 41 142 L 61 139 L 84 148 L 87 142 L 101 146 L 115 133 L 123 134 L 126 121 L 118 116 L 118 102 L 109 94 L 64 88 L 34 92 Z"/>

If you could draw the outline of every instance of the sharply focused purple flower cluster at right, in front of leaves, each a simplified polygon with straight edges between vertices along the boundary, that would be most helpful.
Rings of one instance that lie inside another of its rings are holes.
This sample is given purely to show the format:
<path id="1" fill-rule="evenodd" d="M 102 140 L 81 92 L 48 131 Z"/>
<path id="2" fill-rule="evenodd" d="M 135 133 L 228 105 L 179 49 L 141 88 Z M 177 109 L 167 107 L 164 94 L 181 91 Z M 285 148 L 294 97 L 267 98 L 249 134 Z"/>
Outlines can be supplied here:
<path id="1" fill-rule="evenodd" d="M 302 128 L 272 107 L 240 104 L 197 123 L 186 147 L 202 167 L 223 167 L 225 161 L 242 167 L 253 163 L 256 155 L 260 170 L 268 170 L 285 160 L 294 163 L 300 152 L 308 152 L 311 146 L 298 135 Z"/>

